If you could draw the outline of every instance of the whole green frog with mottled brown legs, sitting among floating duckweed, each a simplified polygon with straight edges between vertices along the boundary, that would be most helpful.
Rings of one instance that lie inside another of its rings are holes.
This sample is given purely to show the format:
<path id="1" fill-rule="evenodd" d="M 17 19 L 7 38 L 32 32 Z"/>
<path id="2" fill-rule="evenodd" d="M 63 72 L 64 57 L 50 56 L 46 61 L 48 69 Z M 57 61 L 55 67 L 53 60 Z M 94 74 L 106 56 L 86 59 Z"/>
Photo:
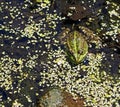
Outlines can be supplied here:
<path id="1" fill-rule="evenodd" d="M 83 26 L 79 26 L 79 28 L 82 32 L 65 28 L 59 35 L 68 59 L 74 64 L 79 64 L 84 60 L 88 53 L 89 43 L 97 44 L 99 41 L 98 36 L 95 36 L 90 29 Z"/>

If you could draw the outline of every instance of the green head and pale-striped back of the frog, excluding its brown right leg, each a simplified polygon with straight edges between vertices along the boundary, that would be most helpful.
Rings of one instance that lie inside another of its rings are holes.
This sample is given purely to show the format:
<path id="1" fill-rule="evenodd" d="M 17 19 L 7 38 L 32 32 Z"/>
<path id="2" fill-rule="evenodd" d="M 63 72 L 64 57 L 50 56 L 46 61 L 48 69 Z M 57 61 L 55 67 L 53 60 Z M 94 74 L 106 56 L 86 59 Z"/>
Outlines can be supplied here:
<path id="1" fill-rule="evenodd" d="M 82 37 L 82 34 L 78 31 L 65 31 L 62 33 L 62 39 L 64 38 L 64 45 L 66 47 L 67 56 L 72 63 L 79 64 L 81 61 L 83 61 L 88 53 L 88 44 Z"/>

